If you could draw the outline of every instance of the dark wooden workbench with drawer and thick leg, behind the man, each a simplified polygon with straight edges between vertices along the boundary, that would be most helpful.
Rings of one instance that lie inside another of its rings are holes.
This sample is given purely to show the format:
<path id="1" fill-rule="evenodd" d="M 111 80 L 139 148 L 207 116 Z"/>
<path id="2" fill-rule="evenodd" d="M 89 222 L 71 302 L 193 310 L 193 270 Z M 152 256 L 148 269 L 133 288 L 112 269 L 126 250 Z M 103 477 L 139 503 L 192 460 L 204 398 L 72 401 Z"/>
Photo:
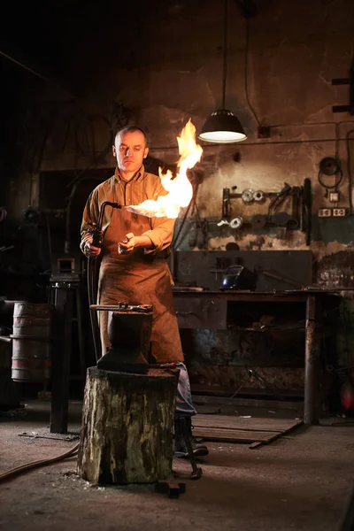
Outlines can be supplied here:
<path id="1" fill-rule="evenodd" d="M 322 308 L 329 296 L 340 290 L 301 289 L 287 291 L 208 291 L 173 289 L 174 306 L 180 328 L 227 329 L 233 324 L 232 308 L 245 303 L 300 303 L 305 320 L 304 423 L 319 422 L 319 373 L 322 336 Z"/>

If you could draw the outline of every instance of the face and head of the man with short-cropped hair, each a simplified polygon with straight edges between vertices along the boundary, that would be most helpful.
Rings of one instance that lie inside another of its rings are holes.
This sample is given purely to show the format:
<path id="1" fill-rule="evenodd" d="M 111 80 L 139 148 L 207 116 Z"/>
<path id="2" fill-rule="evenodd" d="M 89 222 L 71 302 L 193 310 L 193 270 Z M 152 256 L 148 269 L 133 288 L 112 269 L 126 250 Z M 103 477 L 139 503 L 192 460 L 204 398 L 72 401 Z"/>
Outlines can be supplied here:
<path id="1" fill-rule="evenodd" d="M 123 132 L 116 136 L 113 155 L 117 158 L 119 170 L 128 173 L 137 172 L 148 152 L 145 137 L 140 131 Z"/>

